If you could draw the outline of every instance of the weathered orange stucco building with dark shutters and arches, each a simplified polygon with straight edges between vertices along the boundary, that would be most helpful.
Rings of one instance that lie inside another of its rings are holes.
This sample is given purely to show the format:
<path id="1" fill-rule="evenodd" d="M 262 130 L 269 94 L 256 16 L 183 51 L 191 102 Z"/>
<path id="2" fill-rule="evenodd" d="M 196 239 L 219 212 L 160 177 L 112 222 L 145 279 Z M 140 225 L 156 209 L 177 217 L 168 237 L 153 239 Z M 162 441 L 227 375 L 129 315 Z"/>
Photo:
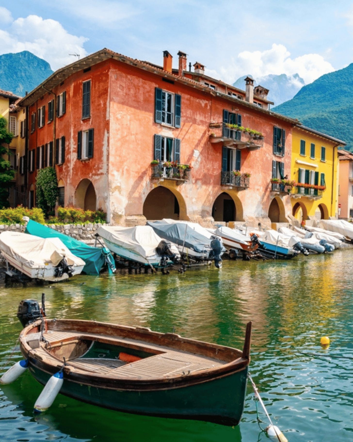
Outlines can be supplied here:
<path id="1" fill-rule="evenodd" d="M 114 224 L 287 221 L 290 196 L 270 179 L 290 176 L 297 120 L 271 112 L 251 78 L 241 91 L 163 55 L 157 66 L 104 49 L 22 99 L 29 205 L 36 172 L 53 165 L 60 205 L 102 208 Z"/>

